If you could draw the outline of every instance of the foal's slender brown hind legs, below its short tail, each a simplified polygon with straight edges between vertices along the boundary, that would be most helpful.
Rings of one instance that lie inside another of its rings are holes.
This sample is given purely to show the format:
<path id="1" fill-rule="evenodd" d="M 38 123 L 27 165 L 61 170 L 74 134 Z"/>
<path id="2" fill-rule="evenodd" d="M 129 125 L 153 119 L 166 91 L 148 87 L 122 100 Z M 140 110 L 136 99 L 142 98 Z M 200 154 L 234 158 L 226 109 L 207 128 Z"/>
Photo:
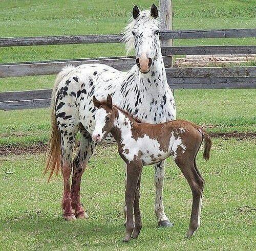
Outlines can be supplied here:
<path id="1" fill-rule="evenodd" d="M 193 236 L 200 225 L 202 195 L 204 188 L 204 179 L 197 172 L 193 158 L 193 156 L 189 158 L 186 156 L 180 156 L 175 160 L 177 166 L 185 176 L 193 195 L 189 229 L 186 234 L 187 237 Z"/>

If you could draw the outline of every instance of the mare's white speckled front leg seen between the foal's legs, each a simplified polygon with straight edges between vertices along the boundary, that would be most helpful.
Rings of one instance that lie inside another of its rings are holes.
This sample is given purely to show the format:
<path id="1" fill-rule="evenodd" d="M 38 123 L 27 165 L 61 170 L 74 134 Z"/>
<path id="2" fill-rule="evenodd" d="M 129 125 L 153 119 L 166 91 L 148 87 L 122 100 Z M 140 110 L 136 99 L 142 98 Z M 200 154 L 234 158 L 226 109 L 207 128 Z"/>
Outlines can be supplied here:
<path id="1" fill-rule="evenodd" d="M 165 160 L 155 164 L 155 213 L 158 220 L 158 226 L 170 227 L 173 226 L 173 224 L 170 223 L 168 217 L 165 215 L 163 206 L 164 165 Z"/>

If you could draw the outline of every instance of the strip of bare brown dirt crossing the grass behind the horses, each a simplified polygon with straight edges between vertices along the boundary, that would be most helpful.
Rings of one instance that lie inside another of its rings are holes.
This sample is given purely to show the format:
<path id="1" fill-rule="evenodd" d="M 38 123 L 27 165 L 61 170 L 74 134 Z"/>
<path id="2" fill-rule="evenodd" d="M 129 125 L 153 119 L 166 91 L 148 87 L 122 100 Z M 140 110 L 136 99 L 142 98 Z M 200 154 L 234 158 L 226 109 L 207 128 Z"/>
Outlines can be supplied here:
<path id="1" fill-rule="evenodd" d="M 223 138 L 224 140 L 228 139 L 237 139 L 237 140 L 247 140 L 255 139 L 256 132 L 211 132 L 209 133 L 211 138 Z M 77 144 L 79 146 L 79 143 Z M 35 154 L 35 153 L 45 153 L 46 144 L 38 143 L 32 146 L 18 146 L 18 145 L 9 145 L 9 146 L 0 146 L 0 156 L 6 155 L 20 155 L 20 154 Z"/>

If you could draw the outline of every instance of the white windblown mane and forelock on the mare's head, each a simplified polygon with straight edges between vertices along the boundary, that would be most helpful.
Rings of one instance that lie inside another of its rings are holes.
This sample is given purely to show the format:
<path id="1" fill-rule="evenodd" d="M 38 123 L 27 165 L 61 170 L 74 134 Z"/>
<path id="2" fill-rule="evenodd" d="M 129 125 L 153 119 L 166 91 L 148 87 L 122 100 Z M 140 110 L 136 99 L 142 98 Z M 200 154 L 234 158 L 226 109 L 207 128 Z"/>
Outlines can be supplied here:
<path id="1" fill-rule="evenodd" d="M 125 27 L 124 32 L 122 33 L 122 41 L 125 43 L 126 48 L 126 55 L 128 55 L 134 48 L 134 36 L 133 36 L 133 29 L 135 24 L 138 21 L 141 21 L 141 24 L 144 24 L 148 21 L 155 22 L 156 25 L 159 25 L 159 21 L 151 16 L 151 12 L 148 10 L 140 11 L 139 16 L 134 19 L 133 17 L 130 18 L 129 24 Z"/>

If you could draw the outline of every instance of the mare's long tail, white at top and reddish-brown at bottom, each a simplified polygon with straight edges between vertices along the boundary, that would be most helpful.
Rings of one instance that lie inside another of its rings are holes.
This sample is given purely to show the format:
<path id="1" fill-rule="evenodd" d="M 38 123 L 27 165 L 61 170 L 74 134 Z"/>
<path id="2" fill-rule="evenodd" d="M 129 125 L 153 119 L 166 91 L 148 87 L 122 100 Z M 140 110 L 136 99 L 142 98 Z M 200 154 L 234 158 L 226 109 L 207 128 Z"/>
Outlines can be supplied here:
<path id="1" fill-rule="evenodd" d="M 46 174 L 50 171 L 49 179 L 50 181 L 53 173 L 56 173 L 56 176 L 59 172 L 59 168 L 61 165 L 61 143 L 60 143 L 60 133 L 57 126 L 57 120 L 55 115 L 55 97 L 56 97 L 56 90 L 60 83 L 60 81 L 69 74 L 74 69 L 73 65 L 68 65 L 62 69 L 62 71 L 57 75 L 55 80 L 55 84 L 53 87 L 52 92 L 52 116 L 51 116 L 51 135 L 47 146 L 47 153 L 46 153 L 46 167 L 45 172 Z"/>

